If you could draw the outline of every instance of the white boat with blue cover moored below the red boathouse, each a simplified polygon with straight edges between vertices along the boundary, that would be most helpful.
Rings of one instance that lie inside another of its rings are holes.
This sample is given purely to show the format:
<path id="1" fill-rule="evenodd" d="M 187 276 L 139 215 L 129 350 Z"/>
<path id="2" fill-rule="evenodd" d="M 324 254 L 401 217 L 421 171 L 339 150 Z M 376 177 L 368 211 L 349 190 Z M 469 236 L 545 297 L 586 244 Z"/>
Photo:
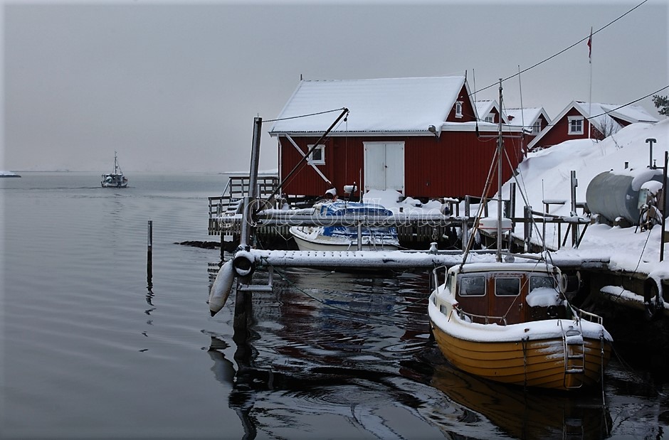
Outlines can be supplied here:
<path id="1" fill-rule="evenodd" d="M 347 219 L 389 217 L 393 215 L 381 205 L 335 200 L 314 205 L 314 214 L 337 216 Z M 363 226 L 358 228 L 352 220 L 350 225 L 292 226 L 290 233 L 300 250 L 347 251 L 396 250 L 399 249 L 396 227 Z M 358 247 L 358 237 L 360 246 Z"/>

